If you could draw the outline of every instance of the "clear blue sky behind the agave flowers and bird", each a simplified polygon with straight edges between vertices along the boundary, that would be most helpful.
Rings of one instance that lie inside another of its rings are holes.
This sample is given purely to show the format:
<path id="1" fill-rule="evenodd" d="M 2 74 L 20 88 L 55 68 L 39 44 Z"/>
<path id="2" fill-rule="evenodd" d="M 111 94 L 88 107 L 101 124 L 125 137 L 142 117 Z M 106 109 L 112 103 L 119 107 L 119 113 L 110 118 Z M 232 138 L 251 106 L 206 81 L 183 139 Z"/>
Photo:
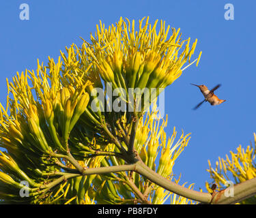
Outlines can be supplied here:
<path id="1" fill-rule="evenodd" d="M 20 20 L 19 6 L 29 4 L 29 20 Z M 234 20 L 225 20 L 224 5 L 234 6 Z M 205 190 L 208 159 L 214 163 L 253 140 L 255 131 L 255 20 L 256 1 L 2 1 L 0 13 L 0 102 L 5 105 L 5 78 L 16 72 L 36 69 L 37 59 L 57 60 L 59 50 L 72 43 L 80 46 L 79 37 L 89 40 L 99 20 L 106 26 L 120 16 L 136 22 L 144 16 L 150 21 L 165 20 L 180 28 L 183 39 L 198 39 L 197 54 L 202 51 L 199 67 L 184 71 L 165 91 L 167 131 L 177 128 L 192 133 L 188 147 L 177 159 L 174 173 L 182 173 L 181 182 L 195 183 Z M 196 57 L 196 56 L 195 56 Z M 203 96 L 190 83 L 205 84 L 227 102 L 220 106 L 203 104 L 192 108 Z"/>

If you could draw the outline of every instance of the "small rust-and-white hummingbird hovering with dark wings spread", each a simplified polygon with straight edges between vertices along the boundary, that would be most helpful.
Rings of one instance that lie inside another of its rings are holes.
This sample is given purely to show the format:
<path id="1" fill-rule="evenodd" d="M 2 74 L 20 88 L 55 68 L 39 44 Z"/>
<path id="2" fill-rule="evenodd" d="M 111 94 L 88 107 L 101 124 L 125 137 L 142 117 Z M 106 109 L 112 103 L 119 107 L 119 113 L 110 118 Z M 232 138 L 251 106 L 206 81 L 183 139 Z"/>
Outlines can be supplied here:
<path id="1" fill-rule="evenodd" d="M 192 83 L 190 83 L 190 84 L 192 84 Z M 218 89 L 219 87 L 221 87 L 221 84 L 217 84 L 216 87 L 214 87 L 211 90 L 209 90 L 208 87 L 205 87 L 204 84 L 201 84 L 201 85 L 193 84 L 193 86 L 199 87 L 201 93 L 203 93 L 203 97 L 205 97 L 203 102 L 209 102 L 212 106 L 226 102 L 226 100 L 218 99 L 218 97 L 216 95 L 214 95 L 214 91 L 216 89 Z M 195 106 L 195 108 L 193 108 L 193 109 L 197 110 L 197 108 L 199 108 L 199 106 L 201 106 L 201 104 L 203 104 L 203 102 L 200 102 L 199 104 L 197 104 L 197 106 Z"/>

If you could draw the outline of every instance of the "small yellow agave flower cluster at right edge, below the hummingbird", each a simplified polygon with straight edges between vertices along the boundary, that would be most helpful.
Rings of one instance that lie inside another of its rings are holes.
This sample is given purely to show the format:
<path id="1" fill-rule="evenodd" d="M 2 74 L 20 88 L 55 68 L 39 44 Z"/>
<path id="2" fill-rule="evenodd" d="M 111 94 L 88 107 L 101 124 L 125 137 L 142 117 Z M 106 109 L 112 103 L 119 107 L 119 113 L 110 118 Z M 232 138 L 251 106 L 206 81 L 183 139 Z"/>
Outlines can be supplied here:
<path id="1" fill-rule="evenodd" d="M 256 164 L 255 164 L 255 149 L 256 149 L 256 134 L 254 134 L 254 146 L 248 145 L 246 149 L 238 146 L 236 153 L 230 151 L 231 157 L 226 155 L 226 158 L 218 158 L 215 168 L 212 167 L 210 161 L 209 169 L 210 178 L 219 189 L 225 189 L 230 185 L 242 183 L 251 178 L 256 177 Z M 205 183 L 208 191 L 211 191 L 210 183 Z M 256 197 L 251 197 L 240 202 L 241 204 L 255 204 Z"/>

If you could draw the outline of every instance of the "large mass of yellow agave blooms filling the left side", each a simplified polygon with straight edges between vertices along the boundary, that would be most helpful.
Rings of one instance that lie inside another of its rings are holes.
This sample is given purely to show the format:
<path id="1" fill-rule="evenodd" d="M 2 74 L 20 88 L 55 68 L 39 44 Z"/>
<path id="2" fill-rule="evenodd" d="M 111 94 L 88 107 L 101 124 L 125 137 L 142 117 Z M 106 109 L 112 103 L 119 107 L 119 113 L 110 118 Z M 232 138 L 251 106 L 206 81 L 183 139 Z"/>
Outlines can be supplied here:
<path id="1" fill-rule="evenodd" d="M 91 42 L 84 40 L 81 48 L 72 44 L 57 62 L 49 57 L 47 65 L 38 61 L 35 72 L 26 69 L 11 82 L 7 80 L 7 103 L 5 107 L 0 104 L 0 143 L 5 150 L 0 155 L 1 200 L 162 204 L 173 196 L 137 173 L 85 173 L 88 168 L 130 163 L 137 153 L 148 167 L 172 179 L 175 159 L 189 138 L 182 133 L 174 143 L 174 129 L 167 140 L 165 120 L 155 119 L 156 109 L 143 116 L 146 106 L 137 112 L 137 97 L 128 91 L 157 88 L 139 99 L 152 104 L 159 88 L 176 80 L 182 66 L 190 63 L 197 42 L 190 48 L 190 39 L 181 40 L 180 29 L 172 29 L 167 39 L 170 28 L 161 21 L 157 33 L 156 24 L 151 25 L 147 18 L 135 31 L 134 20 L 130 24 L 120 18 L 109 29 L 100 22 Z M 132 104 L 132 111 L 106 110 L 107 82 L 119 90 L 113 100 Z M 97 101 L 103 110 L 92 108 L 91 103 L 98 99 L 95 88 L 104 90 L 104 101 Z M 22 197 L 20 193 L 26 191 L 28 195 Z M 142 195 L 147 198 L 140 198 Z M 188 203 L 176 196 L 172 202 Z"/>

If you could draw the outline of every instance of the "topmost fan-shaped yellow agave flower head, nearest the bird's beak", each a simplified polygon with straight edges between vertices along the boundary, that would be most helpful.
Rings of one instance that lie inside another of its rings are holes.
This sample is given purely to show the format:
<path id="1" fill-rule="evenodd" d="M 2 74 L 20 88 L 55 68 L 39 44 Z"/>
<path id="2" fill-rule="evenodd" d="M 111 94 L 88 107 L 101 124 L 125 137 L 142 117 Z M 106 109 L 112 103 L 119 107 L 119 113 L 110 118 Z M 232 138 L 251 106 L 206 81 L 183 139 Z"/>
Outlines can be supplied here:
<path id="1" fill-rule="evenodd" d="M 123 97 L 128 98 L 128 89 L 165 88 L 192 64 L 183 67 L 187 61 L 190 62 L 197 40 L 190 47 L 190 38 L 182 40 L 180 29 L 176 31 L 172 28 L 173 33 L 168 37 L 170 27 L 166 28 L 165 22 L 161 20 L 157 32 L 157 23 L 158 20 L 152 25 L 148 17 L 143 18 L 139 20 L 139 31 L 135 31 L 134 20 L 131 24 L 130 20 L 120 18 L 115 26 L 108 29 L 100 21 L 95 35 L 91 35 L 91 43 L 84 42 L 82 48 L 69 53 L 68 57 L 74 57 L 78 52 L 87 53 L 87 59 L 80 55 L 79 59 L 84 66 L 94 66 L 88 74 L 98 74 L 95 70 L 98 68 L 104 82 L 111 82 L 113 89 L 124 89 L 124 92 L 120 91 Z M 200 57 L 201 52 L 195 59 L 197 64 Z M 66 62 L 68 65 L 68 60 Z M 79 71 L 76 73 L 79 74 Z M 96 83 L 99 83 L 98 79 Z"/>

